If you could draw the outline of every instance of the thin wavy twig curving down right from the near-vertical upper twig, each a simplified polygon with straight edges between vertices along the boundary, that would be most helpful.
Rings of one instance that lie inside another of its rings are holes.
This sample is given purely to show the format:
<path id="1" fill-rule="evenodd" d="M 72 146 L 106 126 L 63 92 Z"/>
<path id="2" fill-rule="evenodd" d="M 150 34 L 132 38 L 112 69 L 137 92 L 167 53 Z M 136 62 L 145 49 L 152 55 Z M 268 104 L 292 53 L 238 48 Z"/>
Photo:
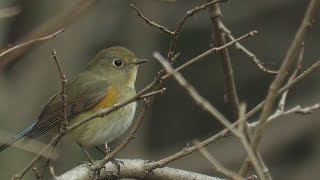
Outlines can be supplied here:
<path id="1" fill-rule="evenodd" d="M 227 29 L 227 27 L 222 22 L 221 22 L 220 29 L 226 34 L 228 39 L 230 39 L 231 41 L 233 41 L 235 39 L 232 36 L 230 30 Z M 269 74 L 277 74 L 278 73 L 278 71 L 274 71 L 274 70 L 270 70 L 270 69 L 266 68 L 263 65 L 263 62 L 261 60 L 259 60 L 256 55 L 254 55 L 252 52 L 250 52 L 246 47 L 244 47 L 239 42 L 235 43 L 235 47 L 236 47 L 236 49 L 239 49 L 243 54 L 248 56 L 249 59 L 252 60 L 261 71 L 263 71 L 265 73 L 269 73 Z"/>

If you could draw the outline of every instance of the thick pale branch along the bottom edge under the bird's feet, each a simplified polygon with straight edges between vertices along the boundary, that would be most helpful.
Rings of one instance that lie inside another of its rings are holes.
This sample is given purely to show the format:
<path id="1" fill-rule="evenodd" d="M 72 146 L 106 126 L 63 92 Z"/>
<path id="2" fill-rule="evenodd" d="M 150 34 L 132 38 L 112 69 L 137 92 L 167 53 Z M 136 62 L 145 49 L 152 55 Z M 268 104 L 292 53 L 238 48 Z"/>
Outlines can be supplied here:
<path id="1" fill-rule="evenodd" d="M 175 179 L 175 180 L 221 180 L 218 177 L 210 177 L 203 174 L 198 174 L 190 171 L 179 170 L 175 168 L 161 168 L 156 169 L 152 173 L 147 171 L 145 160 L 129 160 L 119 159 L 123 162 L 121 164 L 121 171 L 117 174 L 116 167 L 111 163 L 107 163 L 105 168 L 102 169 L 99 179 Z M 59 180 L 90 180 L 95 177 L 95 172 L 88 164 L 82 164 L 74 169 L 57 177 Z"/>

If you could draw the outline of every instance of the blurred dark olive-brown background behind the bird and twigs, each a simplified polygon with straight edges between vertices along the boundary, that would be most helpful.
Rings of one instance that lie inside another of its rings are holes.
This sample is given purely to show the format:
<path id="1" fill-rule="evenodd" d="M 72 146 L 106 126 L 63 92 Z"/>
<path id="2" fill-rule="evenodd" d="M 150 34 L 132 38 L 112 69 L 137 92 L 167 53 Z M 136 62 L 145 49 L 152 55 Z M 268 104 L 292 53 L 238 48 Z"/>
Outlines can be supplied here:
<path id="1" fill-rule="evenodd" d="M 309 1 L 246 0 L 222 4 L 223 22 L 239 37 L 251 30 L 259 34 L 241 43 L 270 69 L 277 69 L 303 18 Z M 65 32 L 54 39 L 14 52 L 0 59 L 0 135 L 6 139 L 35 120 L 48 98 L 60 89 L 60 79 L 52 49 L 56 49 L 68 79 L 80 72 L 99 50 L 121 45 L 138 57 L 150 59 L 138 74 L 137 89 L 142 89 L 155 77 L 160 66 L 152 58 L 153 51 L 167 54 L 170 37 L 146 25 L 130 9 L 134 3 L 148 18 L 174 29 L 184 14 L 205 1 L 9 1 L 2 0 L 0 9 L 10 9 L 12 16 L 0 18 L 0 44 L 10 44 L 53 33 Z M 1 11 L 3 12 L 3 11 Z M 317 21 L 319 21 L 319 16 Z M 302 69 L 320 58 L 320 24 L 316 23 L 305 41 Z M 201 11 L 187 20 L 177 44 L 183 64 L 206 51 L 212 44 L 212 25 L 208 11 Z M 239 98 L 248 109 L 264 99 L 274 75 L 260 71 L 248 57 L 230 48 Z M 196 89 L 232 119 L 230 107 L 224 102 L 224 83 L 220 58 L 211 55 L 185 69 L 183 75 Z M 310 106 L 320 102 L 320 72 L 313 73 L 290 92 L 286 109 L 296 105 Z M 156 98 L 147 113 L 137 137 L 118 158 L 158 160 L 186 147 L 192 139 L 205 139 L 223 129 L 207 113 L 193 104 L 182 88 L 171 79 L 164 82 L 167 91 Z M 141 108 L 141 104 L 139 105 Z M 137 113 L 138 114 L 138 113 Z M 274 179 L 318 179 L 320 176 L 320 113 L 289 115 L 271 123 L 263 138 L 261 154 Z M 250 121 L 256 120 L 256 117 Z M 50 136 L 40 140 L 48 142 Z M 116 145 L 116 144 L 115 144 Z M 40 150 L 38 148 L 38 150 Z M 232 137 L 208 146 L 214 157 L 235 171 L 241 165 L 244 152 Z M 96 159 L 102 156 L 89 149 Z M 86 160 L 79 147 L 68 139 L 59 145 L 55 171 L 59 175 Z M 9 179 L 35 155 L 17 148 L 0 153 L 0 177 Z M 43 162 L 37 166 L 41 169 Z M 171 167 L 208 175 L 219 175 L 198 153 L 169 164 Z M 49 176 L 47 176 L 49 177 Z M 25 179 L 35 179 L 29 172 Z"/>

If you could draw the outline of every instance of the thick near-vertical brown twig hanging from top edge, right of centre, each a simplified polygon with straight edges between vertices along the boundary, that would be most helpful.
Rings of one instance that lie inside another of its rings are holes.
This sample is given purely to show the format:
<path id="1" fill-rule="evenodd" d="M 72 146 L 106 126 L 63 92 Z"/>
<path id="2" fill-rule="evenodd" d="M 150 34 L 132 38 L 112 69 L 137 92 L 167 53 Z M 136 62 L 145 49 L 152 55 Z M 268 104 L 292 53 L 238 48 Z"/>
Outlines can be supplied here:
<path id="1" fill-rule="evenodd" d="M 213 26 L 213 39 L 215 45 L 223 46 L 226 44 L 225 34 L 221 30 L 221 11 L 219 4 L 209 6 L 210 19 Z M 234 81 L 233 68 L 230 60 L 228 48 L 224 48 L 219 52 L 222 62 L 222 70 L 224 75 L 225 101 L 231 106 L 233 116 L 237 119 L 239 115 L 239 98 L 237 95 L 236 84 Z"/>

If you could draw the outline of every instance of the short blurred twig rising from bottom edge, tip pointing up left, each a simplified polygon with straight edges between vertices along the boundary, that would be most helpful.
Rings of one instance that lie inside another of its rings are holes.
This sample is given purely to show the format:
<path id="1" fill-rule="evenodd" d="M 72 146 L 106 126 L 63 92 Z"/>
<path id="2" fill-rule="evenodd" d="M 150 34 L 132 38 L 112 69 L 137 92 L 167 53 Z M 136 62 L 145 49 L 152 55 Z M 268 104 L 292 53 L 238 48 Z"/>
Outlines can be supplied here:
<path id="1" fill-rule="evenodd" d="M 197 149 L 200 151 L 200 153 L 203 155 L 203 157 L 205 157 L 210 164 L 212 165 L 212 167 L 214 168 L 214 170 L 222 173 L 223 175 L 234 179 L 234 180 L 244 180 L 245 178 L 239 176 L 236 172 L 233 172 L 227 168 L 225 168 L 218 160 L 216 160 L 210 153 L 209 151 L 200 145 L 200 142 L 198 140 L 194 140 L 193 144 L 197 147 Z"/>

